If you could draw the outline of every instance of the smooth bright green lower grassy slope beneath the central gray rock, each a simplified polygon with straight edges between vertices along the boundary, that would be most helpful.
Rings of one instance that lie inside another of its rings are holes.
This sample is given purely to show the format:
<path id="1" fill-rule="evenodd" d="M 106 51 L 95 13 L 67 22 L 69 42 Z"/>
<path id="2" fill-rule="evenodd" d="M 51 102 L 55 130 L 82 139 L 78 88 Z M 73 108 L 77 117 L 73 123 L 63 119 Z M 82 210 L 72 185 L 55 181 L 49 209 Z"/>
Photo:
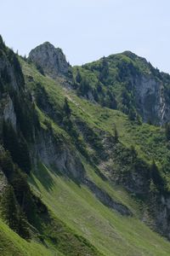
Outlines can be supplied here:
<path id="1" fill-rule="evenodd" d="M 41 169 L 39 172 L 41 173 Z M 101 204 L 85 186 L 78 186 L 65 177 L 59 177 L 43 166 L 44 172 L 48 172 L 53 185 L 45 189 L 43 182 L 33 175 L 33 189 L 36 193 L 41 193 L 42 201 L 55 216 L 77 234 L 87 238 L 104 255 L 169 255 L 169 242 L 151 231 L 138 218 L 122 217 Z M 138 206 L 125 191 L 103 183 L 94 173 L 91 175 L 110 195 L 119 200 L 124 198 L 122 201 L 130 205 L 133 212 L 138 212 Z"/>

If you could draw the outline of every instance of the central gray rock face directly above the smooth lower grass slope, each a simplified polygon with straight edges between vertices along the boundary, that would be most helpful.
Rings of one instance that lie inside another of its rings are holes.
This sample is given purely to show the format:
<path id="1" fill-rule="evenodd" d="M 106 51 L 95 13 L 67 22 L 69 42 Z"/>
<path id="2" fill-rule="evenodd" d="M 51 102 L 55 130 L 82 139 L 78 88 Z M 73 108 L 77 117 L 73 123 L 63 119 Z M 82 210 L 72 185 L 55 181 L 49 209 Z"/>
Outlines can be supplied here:
<path id="1" fill-rule="evenodd" d="M 56 168 L 62 175 L 77 178 L 81 182 L 85 170 L 76 150 L 72 150 L 62 140 L 57 142 L 48 131 L 42 131 L 36 140 L 32 155 L 35 160 L 39 159 L 43 164 Z"/>

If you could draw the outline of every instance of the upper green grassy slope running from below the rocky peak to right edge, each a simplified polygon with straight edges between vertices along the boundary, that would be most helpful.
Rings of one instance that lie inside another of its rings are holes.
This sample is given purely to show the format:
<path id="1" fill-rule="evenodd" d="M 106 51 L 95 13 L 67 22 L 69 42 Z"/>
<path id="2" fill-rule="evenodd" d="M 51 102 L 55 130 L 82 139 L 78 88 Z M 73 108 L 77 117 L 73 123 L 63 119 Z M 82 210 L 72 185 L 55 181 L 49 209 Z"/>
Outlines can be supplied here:
<path id="1" fill-rule="evenodd" d="M 67 96 L 70 101 L 73 116 L 78 116 L 85 120 L 89 126 L 113 133 L 113 128 L 116 124 L 121 142 L 127 147 L 135 145 L 139 154 L 144 157 L 145 160 L 150 160 L 153 157 L 158 164 L 161 164 L 162 153 L 164 154 L 163 160 L 168 157 L 169 143 L 166 142 L 164 130 L 160 127 L 147 124 L 135 125 L 133 122 L 130 122 L 127 115 L 122 112 L 102 108 L 97 104 L 94 105 L 76 96 L 71 90 L 65 90 L 59 83 L 54 82 L 54 80 L 44 78 L 24 61 L 22 61 L 22 66 L 24 73 L 31 75 L 38 83 L 41 83 L 45 87 L 51 102 L 62 107 L 64 97 Z M 36 85 L 32 83 L 31 86 L 34 90 Z M 55 127 L 57 128 L 58 126 L 56 125 Z"/>

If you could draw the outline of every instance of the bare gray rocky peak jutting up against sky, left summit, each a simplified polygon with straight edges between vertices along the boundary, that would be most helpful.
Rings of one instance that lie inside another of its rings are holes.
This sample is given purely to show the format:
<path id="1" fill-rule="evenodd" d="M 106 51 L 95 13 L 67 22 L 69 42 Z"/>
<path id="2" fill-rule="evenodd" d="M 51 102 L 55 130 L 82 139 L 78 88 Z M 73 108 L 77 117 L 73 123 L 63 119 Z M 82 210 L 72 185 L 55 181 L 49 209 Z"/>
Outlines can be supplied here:
<path id="1" fill-rule="evenodd" d="M 29 60 L 35 62 L 45 74 L 53 79 L 68 74 L 69 63 L 66 61 L 62 49 L 55 48 L 48 42 L 31 49 Z"/>

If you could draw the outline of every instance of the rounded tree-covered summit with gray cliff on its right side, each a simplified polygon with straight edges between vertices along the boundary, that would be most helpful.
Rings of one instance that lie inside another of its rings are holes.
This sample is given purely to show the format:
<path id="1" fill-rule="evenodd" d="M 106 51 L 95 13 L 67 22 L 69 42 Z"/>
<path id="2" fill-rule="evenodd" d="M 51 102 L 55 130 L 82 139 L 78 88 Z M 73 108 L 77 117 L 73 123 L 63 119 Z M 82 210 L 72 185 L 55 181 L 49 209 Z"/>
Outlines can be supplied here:
<path id="1" fill-rule="evenodd" d="M 132 52 L 74 67 L 74 78 L 79 95 L 119 109 L 131 120 L 161 125 L 169 121 L 170 76 Z"/>

